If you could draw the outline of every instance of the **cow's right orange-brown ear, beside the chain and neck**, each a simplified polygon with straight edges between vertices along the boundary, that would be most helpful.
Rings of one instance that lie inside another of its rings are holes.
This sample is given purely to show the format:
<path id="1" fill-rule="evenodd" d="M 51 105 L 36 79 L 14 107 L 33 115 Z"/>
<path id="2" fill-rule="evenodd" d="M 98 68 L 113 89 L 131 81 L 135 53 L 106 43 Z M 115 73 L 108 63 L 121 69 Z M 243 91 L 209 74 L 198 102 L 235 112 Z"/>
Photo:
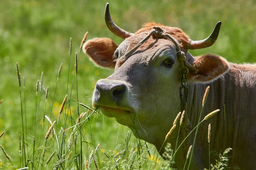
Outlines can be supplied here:
<path id="1" fill-rule="evenodd" d="M 192 82 L 214 81 L 230 68 L 226 59 L 214 54 L 196 57 L 193 67 L 198 70 L 198 73 L 189 73 L 188 80 Z"/>

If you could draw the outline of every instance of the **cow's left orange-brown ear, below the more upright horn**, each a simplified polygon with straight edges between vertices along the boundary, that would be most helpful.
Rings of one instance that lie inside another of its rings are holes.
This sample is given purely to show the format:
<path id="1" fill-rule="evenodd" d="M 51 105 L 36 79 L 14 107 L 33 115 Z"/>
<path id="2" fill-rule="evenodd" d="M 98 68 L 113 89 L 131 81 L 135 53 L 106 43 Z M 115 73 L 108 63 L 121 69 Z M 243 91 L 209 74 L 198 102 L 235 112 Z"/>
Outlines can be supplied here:
<path id="1" fill-rule="evenodd" d="M 116 65 L 113 54 L 118 45 L 109 38 L 94 38 L 83 45 L 83 51 L 96 65 L 104 68 L 114 68 Z"/>

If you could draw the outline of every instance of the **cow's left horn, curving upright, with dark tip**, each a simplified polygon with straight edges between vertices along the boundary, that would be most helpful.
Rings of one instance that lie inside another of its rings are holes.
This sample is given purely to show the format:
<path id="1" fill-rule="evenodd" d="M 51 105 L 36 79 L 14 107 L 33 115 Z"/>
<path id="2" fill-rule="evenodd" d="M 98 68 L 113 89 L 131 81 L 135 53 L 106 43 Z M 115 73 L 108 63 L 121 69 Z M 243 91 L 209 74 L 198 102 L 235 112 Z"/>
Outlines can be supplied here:
<path id="1" fill-rule="evenodd" d="M 113 22 L 110 16 L 109 3 L 106 4 L 106 8 L 105 8 L 105 22 L 108 29 L 122 39 L 131 37 L 133 35 L 133 33 L 125 31 L 122 28 L 119 28 L 118 26 L 116 26 L 116 24 Z"/>

